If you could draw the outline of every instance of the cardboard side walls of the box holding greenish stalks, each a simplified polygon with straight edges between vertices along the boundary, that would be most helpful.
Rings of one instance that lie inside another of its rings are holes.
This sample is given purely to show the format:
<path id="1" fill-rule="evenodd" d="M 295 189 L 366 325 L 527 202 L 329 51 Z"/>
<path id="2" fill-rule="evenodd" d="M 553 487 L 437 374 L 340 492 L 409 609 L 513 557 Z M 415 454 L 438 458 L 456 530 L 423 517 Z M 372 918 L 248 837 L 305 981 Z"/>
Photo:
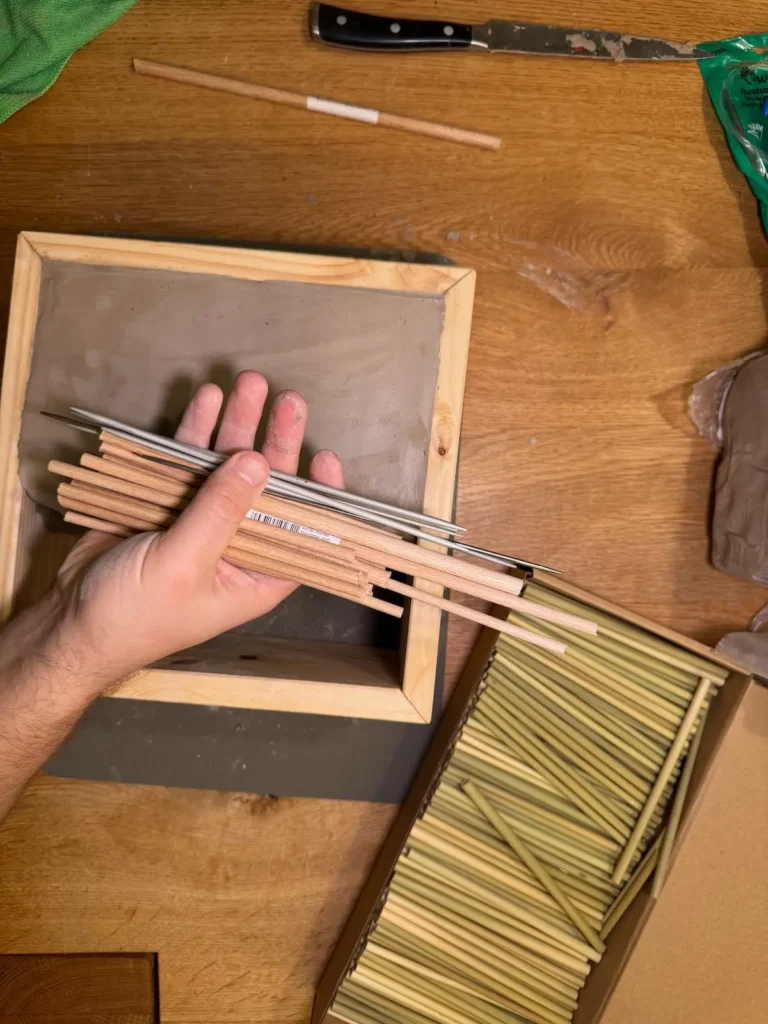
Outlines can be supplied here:
<path id="1" fill-rule="evenodd" d="M 600 611 L 624 618 L 634 626 L 679 644 L 694 654 L 711 658 L 730 670 L 730 675 L 713 700 L 708 716 L 682 823 L 673 851 L 674 859 L 686 842 L 705 787 L 714 772 L 717 771 L 719 751 L 728 734 L 735 714 L 746 695 L 751 678 L 739 666 L 721 657 L 709 647 L 667 630 L 640 615 L 635 615 L 625 608 L 590 594 L 572 584 L 548 575 L 538 575 L 537 582 L 545 583 L 552 590 L 591 604 Z M 495 613 L 498 617 L 506 615 L 504 609 L 496 609 Z M 324 1024 L 324 1022 L 331 1024 L 331 1022 L 336 1021 L 333 1014 L 329 1013 L 336 991 L 349 968 L 356 962 L 367 936 L 376 924 L 382 906 L 382 898 L 394 866 L 407 845 L 411 829 L 429 804 L 432 792 L 451 756 L 457 735 L 471 711 L 477 685 L 497 637 L 498 632 L 492 629 L 485 629 L 480 634 L 411 793 L 384 842 L 371 876 L 321 977 L 310 1024 Z M 649 882 L 611 933 L 602 959 L 591 971 L 580 995 L 579 1009 L 574 1013 L 573 1024 L 597 1024 L 600 1020 L 655 902 L 650 895 Z"/>

